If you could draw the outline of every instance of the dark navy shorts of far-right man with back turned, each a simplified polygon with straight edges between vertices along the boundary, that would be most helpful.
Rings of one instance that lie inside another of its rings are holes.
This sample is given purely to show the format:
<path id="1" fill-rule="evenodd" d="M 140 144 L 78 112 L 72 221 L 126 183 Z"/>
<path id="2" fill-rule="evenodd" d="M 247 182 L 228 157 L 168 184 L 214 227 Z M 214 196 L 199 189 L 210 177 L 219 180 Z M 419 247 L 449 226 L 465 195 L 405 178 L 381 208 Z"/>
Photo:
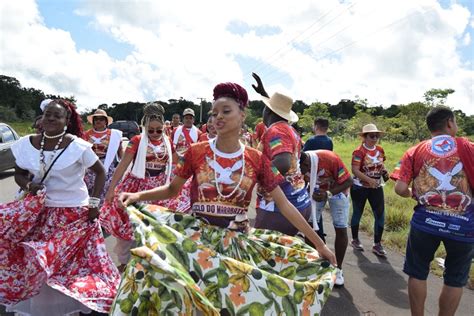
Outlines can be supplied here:
<path id="1" fill-rule="evenodd" d="M 414 227 L 410 228 L 408 236 L 403 272 L 415 279 L 426 280 L 430 263 L 441 242 L 446 249 L 444 284 L 451 287 L 465 286 L 474 257 L 474 243 L 428 234 Z"/>

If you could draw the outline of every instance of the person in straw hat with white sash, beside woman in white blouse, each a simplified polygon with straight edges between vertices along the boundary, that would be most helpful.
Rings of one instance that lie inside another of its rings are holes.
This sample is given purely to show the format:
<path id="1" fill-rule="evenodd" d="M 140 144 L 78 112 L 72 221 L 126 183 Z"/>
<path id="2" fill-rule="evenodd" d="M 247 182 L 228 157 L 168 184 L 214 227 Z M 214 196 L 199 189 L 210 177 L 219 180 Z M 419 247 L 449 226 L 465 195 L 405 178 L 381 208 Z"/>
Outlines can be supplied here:
<path id="1" fill-rule="evenodd" d="M 104 165 L 106 181 L 100 194 L 100 204 L 104 202 L 104 197 L 109 189 L 110 180 L 115 172 L 118 160 L 122 158 L 122 131 L 108 129 L 113 122 L 113 118 L 107 112 L 97 109 L 93 114 L 87 116 L 87 122 L 92 124 L 92 128 L 83 135 L 84 140 L 92 144 L 92 150 L 99 157 Z M 95 173 L 88 170 L 84 177 L 89 193 L 94 186 Z"/>

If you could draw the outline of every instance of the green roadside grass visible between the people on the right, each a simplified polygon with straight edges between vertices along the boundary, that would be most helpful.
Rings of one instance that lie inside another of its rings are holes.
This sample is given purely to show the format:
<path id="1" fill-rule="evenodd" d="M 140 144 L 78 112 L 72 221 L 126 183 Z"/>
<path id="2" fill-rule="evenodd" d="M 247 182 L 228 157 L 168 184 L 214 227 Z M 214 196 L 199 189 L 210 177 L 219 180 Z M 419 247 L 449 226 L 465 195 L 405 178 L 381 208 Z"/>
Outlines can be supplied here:
<path id="1" fill-rule="evenodd" d="M 346 167 L 349 168 L 349 170 L 351 166 L 352 152 L 359 145 L 359 140 L 340 140 L 334 142 L 334 151 L 341 157 L 342 161 Z M 393 171 L 396 164 L 403 156 L 403 153 L 412 145 L 413 144 L 410 143 L 388 142 L 381 144 L 387 157 L 385 166 L 389 172 Z M 390 249 L 405 254 L 405 246 L 410 229 L 410 220 L 413 215 L 413 208 L 416 205 L 416 202 L 413 199 L 406 199 L 398 196 L 394 191 L 394 184 L 395 183 L 390 180 L 384 186 L 385 231 L 383 235 L 383 243 Z M 373 235 L 373 225 L 374 219 L 372 210 L 367 203 L 360 222 L 360 228 Z M 444 249 L 443 245 L 438 248 L 435 254 L 435 258 L 436 257 L 446 257 L 446 250 Z M 431 270 L 437 276 L 443 275 L 443 269 L 435 261 L 431 263 Z M 470 280 L 472 280 L 471 282 L 474 281 L 474 264 L 471 265 Z"/>

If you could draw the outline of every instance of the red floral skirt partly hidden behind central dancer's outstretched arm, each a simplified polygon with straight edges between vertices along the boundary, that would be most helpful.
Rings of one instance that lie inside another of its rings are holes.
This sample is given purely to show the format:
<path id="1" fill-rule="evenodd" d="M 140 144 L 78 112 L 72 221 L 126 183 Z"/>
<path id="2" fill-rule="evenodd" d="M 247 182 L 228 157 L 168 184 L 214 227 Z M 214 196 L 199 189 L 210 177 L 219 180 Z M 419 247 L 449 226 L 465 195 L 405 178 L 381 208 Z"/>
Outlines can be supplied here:
<path id="1" fill-rule="evenodd" d="M 115 189 L 115 197 L 112 203 L 105 201 L 100 209 L 100 224 L 101 226 L 114 237 L 132 240 L 133 229 L 128 218 L 127 212 L 118 204 L 118 196 L 122 192 L 140 192 L 150 190 L 164 185 L 166 182 L 165 173 L 161 173 L 155 177 L 147 177 L 144 179 L 137 178 L 131 173 L 123 179 L 123 181 Z M 190 186 L 188 181 L 185 187 L 174 199 L 164 201 L 148 201 L 148 203 L 160 205 L 169 209 L 177 210 L 178 212 L 186 212 L 190 209 L 190 191 L 186 186 Z"/>

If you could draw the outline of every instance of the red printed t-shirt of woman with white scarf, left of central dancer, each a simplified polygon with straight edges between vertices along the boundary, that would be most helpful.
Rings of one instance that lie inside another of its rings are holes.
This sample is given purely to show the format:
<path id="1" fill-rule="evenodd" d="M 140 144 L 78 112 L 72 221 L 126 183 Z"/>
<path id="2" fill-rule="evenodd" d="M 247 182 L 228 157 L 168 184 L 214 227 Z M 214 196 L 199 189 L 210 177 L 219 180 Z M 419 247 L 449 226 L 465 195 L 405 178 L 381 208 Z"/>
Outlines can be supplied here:
<path id="1" fill-rule="evenodd" d="M 130 153 L 136 157 L 140 140 L 141 135 L 134 136 L 128 143 L 125 152 Z M 175 149 L 171 140 L 170 145 L 172 155 L 175 152 Z M 145 170 L 150 176 L 156 176 L 159 173 L 165 171 L 166 167 L 168 166 L 168 159 L 170 159 L 169 157 L 170 155 L 166 152 L 166 146 L 163 142 L 163 138 L 160 138 L 159 140 L 151 140 L 148 138 Z"/>

